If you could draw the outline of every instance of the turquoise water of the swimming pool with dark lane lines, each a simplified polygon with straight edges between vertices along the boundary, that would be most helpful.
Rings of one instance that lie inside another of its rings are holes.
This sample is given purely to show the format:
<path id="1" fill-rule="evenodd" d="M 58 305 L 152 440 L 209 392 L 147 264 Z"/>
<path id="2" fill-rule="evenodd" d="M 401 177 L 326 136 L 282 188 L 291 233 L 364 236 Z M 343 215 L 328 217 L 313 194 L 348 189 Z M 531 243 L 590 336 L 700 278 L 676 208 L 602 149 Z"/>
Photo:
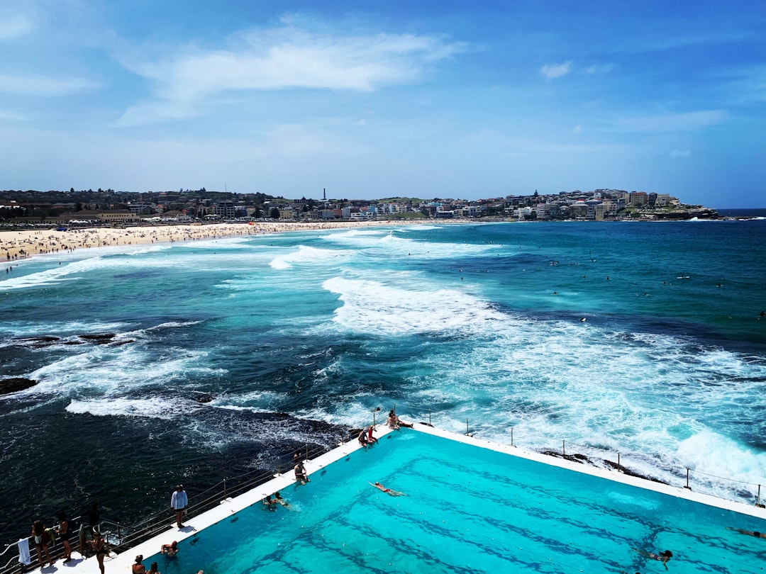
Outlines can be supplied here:
<path id="1" fill-rule="evenodd" d="M 406 496 L 372 488 L 380 481 Z M 152 556 L 163 574 L 763 572 L 766 520 L 404 429 Z"/>

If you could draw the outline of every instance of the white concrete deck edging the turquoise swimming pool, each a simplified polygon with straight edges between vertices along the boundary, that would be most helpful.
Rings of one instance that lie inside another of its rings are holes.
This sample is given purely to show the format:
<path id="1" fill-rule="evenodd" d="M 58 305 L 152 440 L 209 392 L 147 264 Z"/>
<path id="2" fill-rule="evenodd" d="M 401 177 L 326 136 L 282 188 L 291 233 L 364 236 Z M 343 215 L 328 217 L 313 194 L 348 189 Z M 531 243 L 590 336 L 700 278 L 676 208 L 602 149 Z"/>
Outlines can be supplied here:
<path id="1" fill-rule="evenodd" d="M 694 501 L 699 504 L 706 504 L 712 507 L 718 507 L 725 510 L 733 510 L 740 514 L 748 514 L 750 516 L 766 519 L 766 509 L 755 506 L 748 506 L 741 502 L 727 501 L 723 498 L 714 497 L 710 494 L 702 494 L 699 492 L 689 491 L 686 488 L 679 488 L 676 486 L 670 486 L 669 484 L 661 484 L 659 482 L 648 481 L 644 478 L 637 478 L 633 476 L 627 476 L 620 471 L 606 468 L 596 468 L 589 465 L 584 465 L 578 462 L 568 461 L 565 458 L 556 458 L 550 455 L 542 455 L 538 452 L 525 451 L 522 448 L 511 445 L 500 445 L 496 442 L 490 442 L 484 439 L 477 439 L 473 436 L 460 435 L 454 432 L 448 432 L 440 429 L 434 429 L 428 425 L 422 423 L 415 423 L 414 429 L 402 429 L 398 432 L 424 432 L 429 435 L 440 436 L 444 439 L 450 439 L 457 442 L 463 442 L 467 445 L 473 445 L 480 448 L 489 448 L 496 452 L 502 452 L 507 455 L 518 456 L 520 458 L 526 458 L 531 461 L 541 462 L 545 465 L 556 466 L 559 468 L 565 468 L 570 471 L 581 472 L 585 475 L 592 475 L 600 478 L 605 478 L 611 481 L 621 482 L 623 484 L 630 484 L 637 488 L 643 488 L 650 491 L 661 492 L 663 494 L 669 494 L 670 496 L 685 498 L 689 501 Z M 375 432 L 378 438 L 388 435 L 390 432 L 397 432 L 384 425 L 375 426 Z M 324 455 L 320 455 L 317 458 L 313 458 L 306 461 L 306 471 L 309 474 L 309 484 L 302 488 L 311 488 L 310 477 L 311 475 L 331 465 L 333 462 L 339 461 L 350 453 L 362 448 L 357 441 L 345 442 L 339 445 L 337 448 L 333 448 L 331 451 L 326 452 Z M 134 546 L 130 550 L 123 552 L 122 554 L 111 553 L 110 556 L 106 556 L 104 559 L 105 572 L 109 574 L 129 574 L 131 572 L 131 566 L 136 562 L 136 556 L 141 554 L 145 556 L 143 564 L 146 569 L 149 569 L 149 557 L 156 553 L 159 553 L 162 544 L 172 543 L 173 540 L 181 542 L 190 536 L 194 536 L 200 530 L 204 530 L 207 527 L 212 526 L 215 523 L 224 520 L 224 518 L 231 516 L 234 513 L 243 510 L 253 504 L 261 504 L 261 501 L 269 494 L 274 494 L 277 491 L 283 491 L 295 483 L 295 476 L 290 471 L 285 475 L 275 475 L 274 478 L 250 491 L 247 491 L 240 496 L 234 498 L 226 498 L 221 500 L 218 507 L 207 510 L 206 512 L 191 518 L 184 520 L 184 528 L 178 529 L 175 527 L 175 518 L 172 517 L 170 510 L 168 511 L 168 530 L 164 533 L 158 534 L 151 540 L 147 540 L 144 543 Z M 57 549 L 61 546 L 58 545 Z M 37 563 L 37 553 L 34 547 L 31 548 L 32 563 Z M 201 564 L 200 569 L 205 569 L 205 565 Z M 42 572 L 42 574 L 51 574 L 51 572 L 76 572 L 76 574 L 100 574 L 100 569 L 96 558 L 90 557 L 88 559 L 80 556 L 80 553 L 73 552 L 70 562 L 64 564 L 62 559 L 57 559 L 53 566 L 43 566 L 42 568 L 35 568 L 28 572 Z M 188 572 L 188 574 L 195 574 L 195 572 Z"/>

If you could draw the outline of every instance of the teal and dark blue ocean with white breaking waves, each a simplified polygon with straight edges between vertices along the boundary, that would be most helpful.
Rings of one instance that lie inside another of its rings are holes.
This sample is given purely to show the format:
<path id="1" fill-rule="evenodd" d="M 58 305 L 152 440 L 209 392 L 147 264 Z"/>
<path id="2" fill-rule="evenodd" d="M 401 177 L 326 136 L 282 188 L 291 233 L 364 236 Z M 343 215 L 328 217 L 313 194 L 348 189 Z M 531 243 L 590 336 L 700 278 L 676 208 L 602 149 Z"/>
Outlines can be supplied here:
<path id="1" fill-rule="evenodd" d="M 135 523 L 394 404 L 751 503 L 764 245 L 763 218 L 434 223 L 18 261 L 0 377 L 37 384 L 0 396 L 0 541 L 91 501 Z"/>

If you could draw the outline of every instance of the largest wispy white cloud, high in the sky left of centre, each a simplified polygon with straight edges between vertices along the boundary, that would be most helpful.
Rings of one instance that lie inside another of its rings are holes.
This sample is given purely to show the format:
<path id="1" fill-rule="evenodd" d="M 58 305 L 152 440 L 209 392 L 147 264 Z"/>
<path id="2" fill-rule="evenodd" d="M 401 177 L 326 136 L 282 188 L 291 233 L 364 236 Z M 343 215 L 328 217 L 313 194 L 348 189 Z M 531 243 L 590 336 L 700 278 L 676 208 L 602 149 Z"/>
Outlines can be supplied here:
<path id="1" fill-rule="evenodd" d="M 126 110 L 121 123 L 201 113 L 224 93 L 262 90 L 372 92 L 413 83 L 464 44 L 439 36 L 315 34 L 291 26 L 238 34 L 226 50 L 178 47 L 164 57 L 123 64 L 152 83 L 155 99 Z"/>

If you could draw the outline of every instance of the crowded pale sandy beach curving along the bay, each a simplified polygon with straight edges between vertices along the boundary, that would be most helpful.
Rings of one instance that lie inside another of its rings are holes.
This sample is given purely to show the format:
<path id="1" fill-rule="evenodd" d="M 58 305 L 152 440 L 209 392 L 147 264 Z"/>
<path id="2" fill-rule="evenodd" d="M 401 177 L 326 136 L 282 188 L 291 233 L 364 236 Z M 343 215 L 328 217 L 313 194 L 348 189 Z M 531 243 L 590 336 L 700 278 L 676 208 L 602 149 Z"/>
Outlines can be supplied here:
<path id="1" fill-rule="evenodd" d="M 337 222 L 254 222 L 162 225 L 155 227 L 89 227 L 66 231 L 20 230 L 0 231 L 0 256 L 6 263 L 44 253 L 71 252 L 116 245 L 142 243 L 175 243 L 177 241 L 210 240 L 221 237 L 263 235 L 287 231 L 328 230 L 380 225 L 434 223 L 432 220 L 375 220 Z M 441 222 L 440 222 L 441 223 Z"/>

